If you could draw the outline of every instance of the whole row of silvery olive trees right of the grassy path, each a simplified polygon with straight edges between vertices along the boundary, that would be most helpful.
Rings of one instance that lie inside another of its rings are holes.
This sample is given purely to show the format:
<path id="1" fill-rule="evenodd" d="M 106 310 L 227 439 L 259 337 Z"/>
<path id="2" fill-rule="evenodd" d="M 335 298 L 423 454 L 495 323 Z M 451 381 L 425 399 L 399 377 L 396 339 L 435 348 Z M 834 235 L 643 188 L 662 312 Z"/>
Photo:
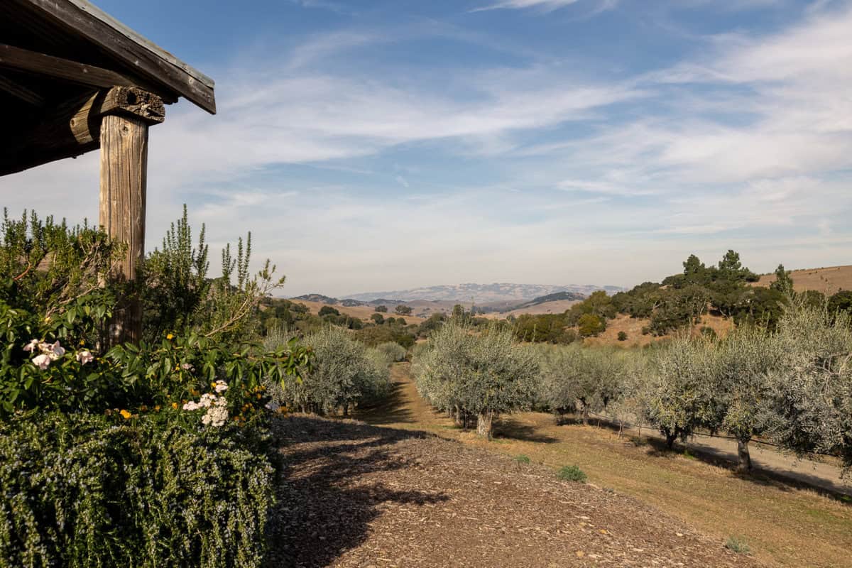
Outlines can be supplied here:
<path id="1" fill-rule="evenodd" d="M 797 454 L 827 453 L 852 466 L 852 322 L 791 298 L 776 330 L 739 326 L 718 340 L 675 336 L 643 350 L 528 347 L 497 324 L 472 333 L 453 319 L 415 358 L 417 387 L 459 425 L 515 410 L 605 412 L 650 423 L 673 445 L 697 429 L 771 439 Z"/>

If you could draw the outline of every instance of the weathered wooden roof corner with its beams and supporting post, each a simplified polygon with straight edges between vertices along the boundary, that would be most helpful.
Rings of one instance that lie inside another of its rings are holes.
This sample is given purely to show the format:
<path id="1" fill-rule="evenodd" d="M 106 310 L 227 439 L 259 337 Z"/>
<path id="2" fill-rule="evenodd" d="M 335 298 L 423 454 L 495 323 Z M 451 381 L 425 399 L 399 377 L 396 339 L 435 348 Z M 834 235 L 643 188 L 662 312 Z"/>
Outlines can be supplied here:
<path id="1" fill-rule="evenodd" d="M 216 113 L 213 80 L 86 0 L 0 0 L 0 175 L 101 148 L 100 223 L 144 255 L 148 128 L 179 97 Z M 138 339 L 130 299 L 112 341 Z"/>

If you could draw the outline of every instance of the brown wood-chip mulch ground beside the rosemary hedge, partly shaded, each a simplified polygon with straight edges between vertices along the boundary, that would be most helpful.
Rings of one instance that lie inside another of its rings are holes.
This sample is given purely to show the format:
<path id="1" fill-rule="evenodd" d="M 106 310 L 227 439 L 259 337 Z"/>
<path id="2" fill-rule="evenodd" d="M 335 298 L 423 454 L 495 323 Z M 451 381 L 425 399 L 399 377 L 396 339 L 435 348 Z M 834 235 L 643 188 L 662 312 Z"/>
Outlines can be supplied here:
<path id="1" fill-rule="evenodd" d="M 756 566 L 642 502 L 431 434 L 289 416 L 270 566 Z"/>

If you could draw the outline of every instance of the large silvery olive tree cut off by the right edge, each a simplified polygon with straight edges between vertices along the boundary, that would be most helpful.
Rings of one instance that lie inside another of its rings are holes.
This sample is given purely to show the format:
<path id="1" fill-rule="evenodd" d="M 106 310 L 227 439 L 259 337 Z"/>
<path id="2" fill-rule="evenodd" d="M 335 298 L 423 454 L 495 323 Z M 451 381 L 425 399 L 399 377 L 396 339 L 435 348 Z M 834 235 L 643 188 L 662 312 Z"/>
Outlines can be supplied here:
<path id="1" fill-rule="evenodd" d="M 798 455 L 840 456 L 852 467 L 852 320 L 790 301 L 778 324 L 780 364 L 770 374 L 773 438 Z"/>

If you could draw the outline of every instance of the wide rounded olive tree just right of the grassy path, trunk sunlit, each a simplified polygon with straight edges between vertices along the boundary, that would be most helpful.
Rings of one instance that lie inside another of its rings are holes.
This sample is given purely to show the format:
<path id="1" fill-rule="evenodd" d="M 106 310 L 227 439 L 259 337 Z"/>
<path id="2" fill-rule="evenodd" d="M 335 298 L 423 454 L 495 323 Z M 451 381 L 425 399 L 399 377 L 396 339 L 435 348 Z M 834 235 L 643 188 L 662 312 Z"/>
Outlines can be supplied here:
<path id="1" fill-rule="evenodd" d="M 486 439 L 495 416 L 532 404 L 539 376 L 538 360 L 508 327 L 473 333 L 456 318 L 432 332 L 416 371 L 424 398 L 457 417 L 476 416 L 476 432 Z"/>

